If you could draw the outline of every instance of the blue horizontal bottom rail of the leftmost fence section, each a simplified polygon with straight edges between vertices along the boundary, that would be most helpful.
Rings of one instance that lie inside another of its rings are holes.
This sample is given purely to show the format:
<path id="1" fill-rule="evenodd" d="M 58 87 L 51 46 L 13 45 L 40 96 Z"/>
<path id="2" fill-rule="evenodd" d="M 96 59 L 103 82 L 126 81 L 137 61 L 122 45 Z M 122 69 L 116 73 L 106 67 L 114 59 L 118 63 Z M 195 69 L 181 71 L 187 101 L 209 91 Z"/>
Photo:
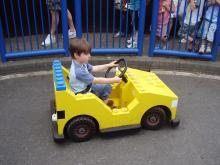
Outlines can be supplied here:
<path id="1" fill-rule="evenodd" d="M 55 55 L 55 54 L 65 54 L 65 49 L 48 49 L 48 50 L 37 50 L 37 51 L 22 51 L 14 53 L 6 53 L 5 57 L 7 59 L 11 58 L 21 58 L 21 57 L 33 57 L 33 56 L 45 56 L 45 55 Z"/>

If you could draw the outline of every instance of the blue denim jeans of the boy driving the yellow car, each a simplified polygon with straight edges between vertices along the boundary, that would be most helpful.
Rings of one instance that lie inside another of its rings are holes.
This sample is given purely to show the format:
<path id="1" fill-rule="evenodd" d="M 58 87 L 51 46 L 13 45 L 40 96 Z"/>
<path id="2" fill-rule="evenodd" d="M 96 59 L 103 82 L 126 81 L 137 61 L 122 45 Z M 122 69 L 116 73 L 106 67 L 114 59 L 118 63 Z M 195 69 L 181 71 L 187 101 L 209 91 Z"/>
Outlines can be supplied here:
<path id="1" fill-rule="evenodd" d="M 112 86 L 110 84 L 92 84 L 91 92 L 102 100 L 107 100 L 111 94 Z"/>

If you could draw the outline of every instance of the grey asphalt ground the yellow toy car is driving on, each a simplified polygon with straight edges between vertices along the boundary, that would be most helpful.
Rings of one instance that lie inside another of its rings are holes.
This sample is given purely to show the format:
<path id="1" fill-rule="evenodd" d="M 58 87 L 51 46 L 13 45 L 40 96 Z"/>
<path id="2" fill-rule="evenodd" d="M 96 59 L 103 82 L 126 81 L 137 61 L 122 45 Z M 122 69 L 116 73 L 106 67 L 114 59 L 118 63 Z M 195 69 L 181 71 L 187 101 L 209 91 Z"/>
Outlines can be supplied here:
<path id="1" fill-rule="evenodd" d="M 220 76 L 158 73 L 180 98 L 176 129 L 120 131 L 84 143 L 56 144 L 49 105 L 53 80 L 46 73 L 0 80 L 1 165 L 220 164 Z"/>

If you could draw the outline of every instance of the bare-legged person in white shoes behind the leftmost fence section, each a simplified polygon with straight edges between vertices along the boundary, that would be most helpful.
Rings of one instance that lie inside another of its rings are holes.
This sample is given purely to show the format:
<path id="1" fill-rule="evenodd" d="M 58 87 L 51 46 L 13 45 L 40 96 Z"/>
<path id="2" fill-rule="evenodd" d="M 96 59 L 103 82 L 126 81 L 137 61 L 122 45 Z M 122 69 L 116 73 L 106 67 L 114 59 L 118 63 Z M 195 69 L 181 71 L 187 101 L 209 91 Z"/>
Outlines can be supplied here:
<path id="1" fill-rule="evenodd" d="M 61 11 L 61 1 L 60 0 L 46 0 L 46 4 L 48 5 L 48 8 L 51 13 L 51 39 L 50 39 L 50 34 L 47 35 L 45 41 L 41 43 L 41 46 L 49 46 L 50 42 L 51 44 L 56 43 L 56 26 L 59 24 L 59 12 Z M 76 29 L 73 24 L 73 18 L 69 10 L 67 9 L 67 16 L 68 16 L 68 24 L 69 24 L 69 31 L 68 35 L 69 38 L 74 38 L 76 37 Z M 57 24 L 57 25 L 56 25 Z"/>

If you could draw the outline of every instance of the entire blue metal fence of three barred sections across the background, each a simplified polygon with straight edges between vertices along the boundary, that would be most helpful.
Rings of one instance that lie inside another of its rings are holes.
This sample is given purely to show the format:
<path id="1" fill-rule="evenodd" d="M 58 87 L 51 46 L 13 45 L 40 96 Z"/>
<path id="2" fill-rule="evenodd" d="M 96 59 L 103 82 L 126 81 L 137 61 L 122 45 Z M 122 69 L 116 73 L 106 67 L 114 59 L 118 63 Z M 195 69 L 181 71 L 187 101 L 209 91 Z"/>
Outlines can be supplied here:
<path id="1" fill-rule="evenodd" d="M 208 6 L 205 0 L 196 1 L 198 1 L 197 8 L 200 9 L 203 4 L 204 8 L 203 11 L 197 10 L 193 32 L 190 29 L 193 13 L 187 9 L 188 0 L 153 1 L 150 56 L 169 55 L 216 60 L 220 42 L 220 14 L 211 53 L 206 52 L 207 42 L 205 53 L 199 53 L 201 36 L 198 34 L 204 31 L 202 20 L 205 20 L 204 15 Z M 57 4 L 59 0 L 53 0 L 53 2 Z M 161 10 L 160 3 L 165 2 L 169 3 L 170 8 L 158 14 Z M 62 18 L 62 28 L 56 26 L 55 34 L 51 34 L 51 9 L 46 5 L 49 3 L 49 0 L 1 0 L 0 54 L 3 62 L 12 58 L 31 56 L 55 54 L 68 56 L 67 0 L 61 0 L 59 13 Z M 183 10 L 179 7 L 180 3 L 183 3 Z M 175 6 L 175 12 L 172 11 L 173 6 Z M 56 13 L 59 9 L 56 5 L 54 7 L 53 10 Z M 181 12 L 181 17 L 178 17 Z M 174 13 L 177 16 L 173 19 L 171 14 Z M 143 54 L 145 0 L 74 0 L 74 14 L 76 36 L 87 38 L 92 45 L 93 54 Z M 201 18 L 199 14 L 202 15 Z M 56 24 L 59 22 L 58 16 L 55 14 Z M 189 19 L 187 26 L 185 26 L 186 17 Z M 202 30 L 199 32 L 199 29 Z M 47 37 L 49 37 L 49 44 L 45 42 Z"/>

